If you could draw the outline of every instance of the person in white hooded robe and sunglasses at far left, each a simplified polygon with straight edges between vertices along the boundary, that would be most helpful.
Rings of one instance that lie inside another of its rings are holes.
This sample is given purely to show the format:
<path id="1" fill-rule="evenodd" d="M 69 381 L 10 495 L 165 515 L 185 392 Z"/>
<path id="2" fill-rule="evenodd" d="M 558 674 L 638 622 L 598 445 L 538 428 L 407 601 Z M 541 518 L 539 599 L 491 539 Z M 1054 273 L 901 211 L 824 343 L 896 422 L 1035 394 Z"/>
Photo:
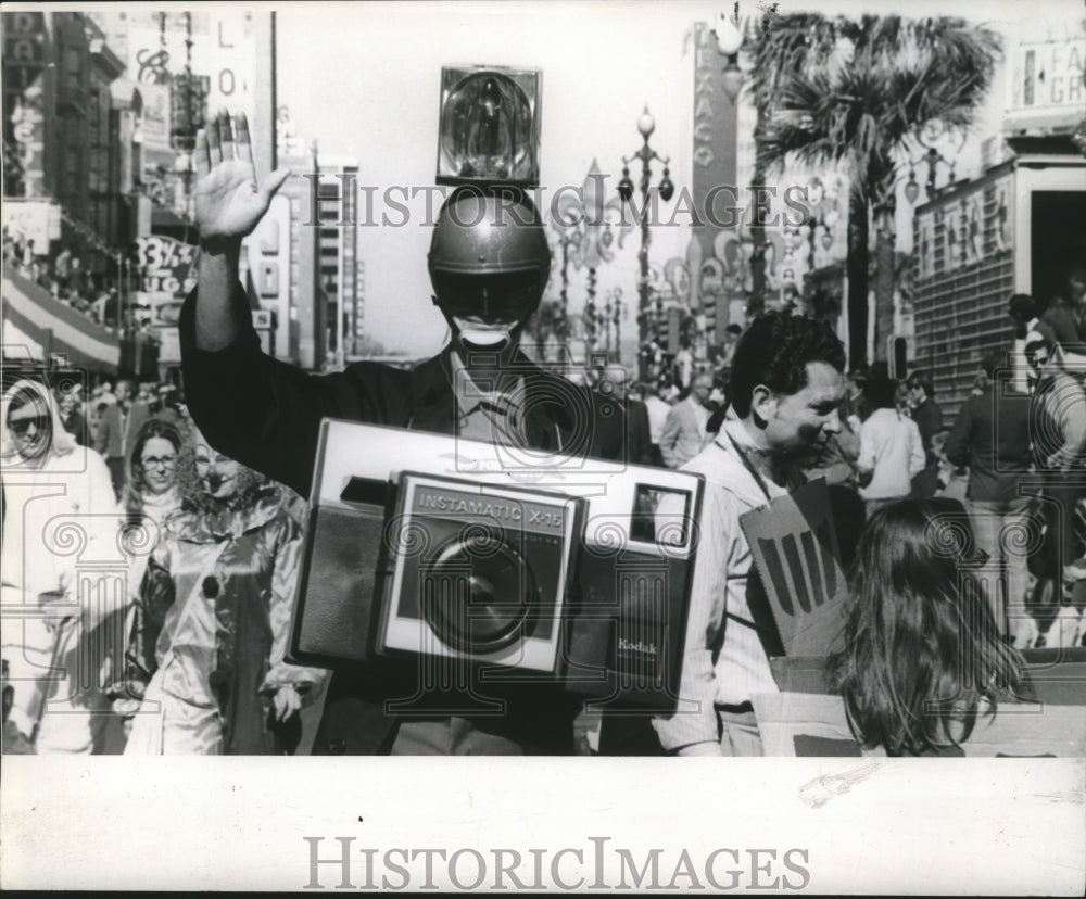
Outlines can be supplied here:
<path id="1" fill-rule="evenodd" d="M 38 752 L 101 751 L 101 686 L 124 647 L 127 555 L 109 469 L 64 430 L 52 392 L 16 381 L 3 422 L 3 659 L 9 721 Z"/>

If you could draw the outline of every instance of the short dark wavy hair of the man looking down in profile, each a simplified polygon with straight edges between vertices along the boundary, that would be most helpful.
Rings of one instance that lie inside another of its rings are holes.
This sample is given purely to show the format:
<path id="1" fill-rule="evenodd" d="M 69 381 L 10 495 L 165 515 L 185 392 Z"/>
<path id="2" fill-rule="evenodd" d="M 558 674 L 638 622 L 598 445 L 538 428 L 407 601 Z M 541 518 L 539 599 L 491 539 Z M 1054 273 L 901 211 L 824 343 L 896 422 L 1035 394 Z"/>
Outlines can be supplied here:
<path id="1" fill-rule="evenodd" d="M 756 318 L 735 346 L 729 380 L 732 404 L 741 417 L 750 414 L 755 388 L 798 393 L 807 385 L 808 363 L 845 369 L 845 347 L 825 322 L 807 316 L 767 313 Z"/>

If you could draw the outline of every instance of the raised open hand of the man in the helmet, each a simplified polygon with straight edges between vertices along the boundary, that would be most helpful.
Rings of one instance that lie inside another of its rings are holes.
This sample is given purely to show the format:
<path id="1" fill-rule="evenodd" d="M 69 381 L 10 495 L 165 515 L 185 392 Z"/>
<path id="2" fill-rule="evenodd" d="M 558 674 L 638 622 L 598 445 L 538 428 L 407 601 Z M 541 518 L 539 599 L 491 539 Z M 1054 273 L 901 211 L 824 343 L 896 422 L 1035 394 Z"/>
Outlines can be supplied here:
<path id="1" fill-rule="evenodd" d="M 238 114 L 236 125 L 235 130 L 229 112 L 222 110 L 197 135 L 193 193 L 197 228 L 205 244 L 241 240 L 252 233 L 290 175 L 289 168 L 276 169 L 257 187 L 244 113 Z"/>

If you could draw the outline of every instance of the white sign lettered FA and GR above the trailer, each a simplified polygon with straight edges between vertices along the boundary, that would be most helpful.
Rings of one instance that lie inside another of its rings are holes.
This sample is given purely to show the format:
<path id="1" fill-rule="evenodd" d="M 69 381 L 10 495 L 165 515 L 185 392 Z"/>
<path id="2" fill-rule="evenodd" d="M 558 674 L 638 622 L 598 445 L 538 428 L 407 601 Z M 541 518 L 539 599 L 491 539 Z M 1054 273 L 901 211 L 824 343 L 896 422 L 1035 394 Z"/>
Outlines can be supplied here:
<path id="1" fill-rule="evenodd" d="M 1086 38 L 1024 43 L 1014 54 L 1009 112 L 1069 110 L 1086 105 Z"/>

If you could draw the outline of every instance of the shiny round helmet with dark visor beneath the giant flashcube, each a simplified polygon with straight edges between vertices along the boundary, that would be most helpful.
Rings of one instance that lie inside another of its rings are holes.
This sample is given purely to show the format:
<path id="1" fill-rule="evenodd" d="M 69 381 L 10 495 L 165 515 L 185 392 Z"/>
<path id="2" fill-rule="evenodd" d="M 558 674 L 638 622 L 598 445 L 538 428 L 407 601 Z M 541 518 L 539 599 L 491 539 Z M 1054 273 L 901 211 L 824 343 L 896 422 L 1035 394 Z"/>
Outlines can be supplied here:
<path id="1" fill-rule="evenodd" d="M 525 321 L 551 274 L 551 248 L 539 210 L 521 190 L 455 191 L 438 214 L 430 282 L 446 316 Z"/>

